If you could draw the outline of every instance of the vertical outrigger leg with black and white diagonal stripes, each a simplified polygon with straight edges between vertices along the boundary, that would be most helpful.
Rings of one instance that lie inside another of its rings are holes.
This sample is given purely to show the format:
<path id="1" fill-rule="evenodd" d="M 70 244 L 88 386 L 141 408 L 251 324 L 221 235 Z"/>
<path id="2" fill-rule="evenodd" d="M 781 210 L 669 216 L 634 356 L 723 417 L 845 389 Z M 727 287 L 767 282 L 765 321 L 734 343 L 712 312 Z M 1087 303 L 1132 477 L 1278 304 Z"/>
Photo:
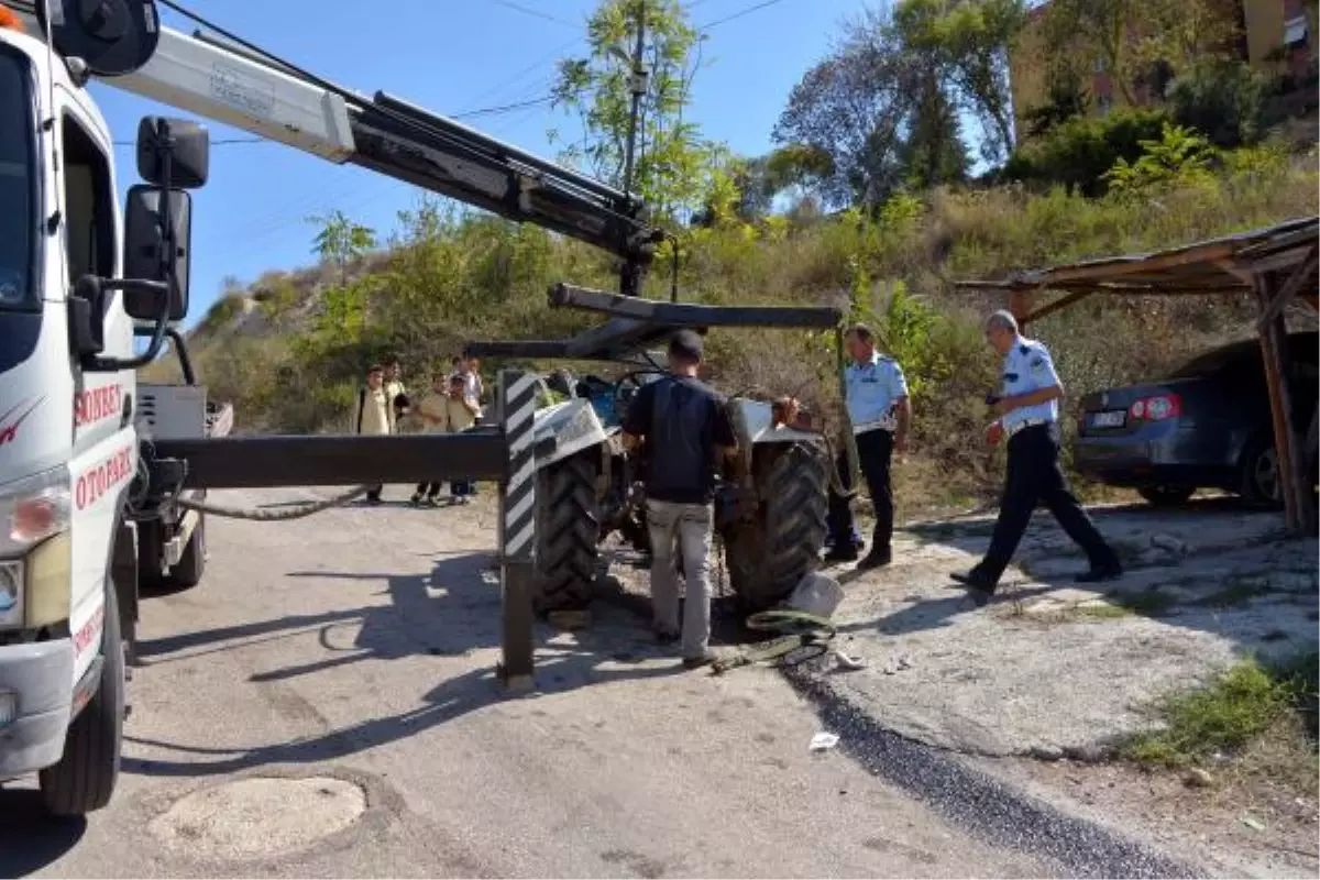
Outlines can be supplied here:
<path id="1" fill-rule="evenodd" d="M 499 548 L 503 603 L 499 677 L 515 691 L 535 686 L 536 451 L 532 418 L 536 376 L 516 369 L 499 375 L 499 412 L 508 446 L 500 482 Z"/>

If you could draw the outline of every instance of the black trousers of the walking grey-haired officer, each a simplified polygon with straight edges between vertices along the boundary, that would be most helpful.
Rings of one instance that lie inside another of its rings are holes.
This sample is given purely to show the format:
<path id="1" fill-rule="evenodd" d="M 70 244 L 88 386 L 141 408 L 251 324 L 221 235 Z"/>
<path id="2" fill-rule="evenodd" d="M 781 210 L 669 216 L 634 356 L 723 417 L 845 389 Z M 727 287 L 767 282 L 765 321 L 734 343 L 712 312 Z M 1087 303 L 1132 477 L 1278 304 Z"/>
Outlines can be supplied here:
<path id="1" fill-rule="evenodd" d="M 1059 466 L 1059 425 L 1049 422 L 1023 427 L 1008 439 L 1008 474 L 999 501 L 999 519 L 985 559 L 972 570 L 979 584 L 993 588 L 999 582 L 1038 503 L 1044 503 L 1068 537 L 1086 551 L 1093 569 L 1118 565 L 1113 548 L 1068 488 L 1068 479 Z"/>

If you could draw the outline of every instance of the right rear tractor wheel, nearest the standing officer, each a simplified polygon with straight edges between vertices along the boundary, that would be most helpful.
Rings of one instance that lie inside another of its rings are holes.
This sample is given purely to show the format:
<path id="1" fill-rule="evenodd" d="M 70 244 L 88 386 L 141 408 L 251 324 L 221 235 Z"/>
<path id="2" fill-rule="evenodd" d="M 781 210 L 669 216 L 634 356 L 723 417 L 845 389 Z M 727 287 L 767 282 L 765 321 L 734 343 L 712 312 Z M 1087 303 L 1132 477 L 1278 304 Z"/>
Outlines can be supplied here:
<path id="1" fill-rule="evenodd" d="M 733 522 L 723 534 L 729 583 L 742 613 L 783 602 L 820 566 L 829 505 L 828 462 L 821 450 L 775 443 L 752 455 L 755 517 Z"/>

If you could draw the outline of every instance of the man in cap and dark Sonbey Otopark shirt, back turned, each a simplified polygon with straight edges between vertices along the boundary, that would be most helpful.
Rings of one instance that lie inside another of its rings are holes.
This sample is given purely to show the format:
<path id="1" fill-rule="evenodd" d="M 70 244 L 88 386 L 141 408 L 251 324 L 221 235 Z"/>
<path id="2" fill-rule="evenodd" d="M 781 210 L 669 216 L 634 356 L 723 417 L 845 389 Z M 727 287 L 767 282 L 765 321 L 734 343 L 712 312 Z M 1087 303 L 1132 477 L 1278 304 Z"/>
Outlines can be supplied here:
<path id="1" fill-rule="evenodd" d="M 697 380 L 701 336 L 680 330 L 669 342 L 669 372 L 643 385 L 623 418 L 623 443 L 645 455 L 647 528 L 651 532 L 651 603 L 656 637 L 682 640 L 689 669 L 709 664 L 710 536 L 715 468 L 738 451 L 725 400 Z M 688 600 L 678 625 L 678 573 L 682 554 Z"/>

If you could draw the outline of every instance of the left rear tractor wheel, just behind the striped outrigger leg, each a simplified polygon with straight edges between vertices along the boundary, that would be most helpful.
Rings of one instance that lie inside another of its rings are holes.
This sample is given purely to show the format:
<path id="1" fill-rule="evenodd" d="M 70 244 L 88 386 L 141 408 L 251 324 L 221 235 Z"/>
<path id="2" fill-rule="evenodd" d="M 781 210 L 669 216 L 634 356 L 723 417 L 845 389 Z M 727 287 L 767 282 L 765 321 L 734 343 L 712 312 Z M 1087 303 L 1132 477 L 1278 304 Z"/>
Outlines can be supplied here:
<path id="1" fill-rule="evenodd" d="M 536 475 L 536 610 L 570 611 L 591 603 L 601 550 L 595 449 Z"/>

